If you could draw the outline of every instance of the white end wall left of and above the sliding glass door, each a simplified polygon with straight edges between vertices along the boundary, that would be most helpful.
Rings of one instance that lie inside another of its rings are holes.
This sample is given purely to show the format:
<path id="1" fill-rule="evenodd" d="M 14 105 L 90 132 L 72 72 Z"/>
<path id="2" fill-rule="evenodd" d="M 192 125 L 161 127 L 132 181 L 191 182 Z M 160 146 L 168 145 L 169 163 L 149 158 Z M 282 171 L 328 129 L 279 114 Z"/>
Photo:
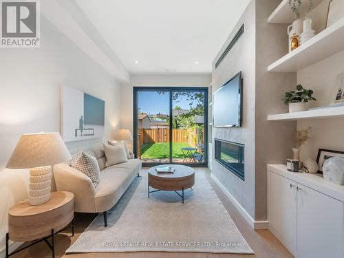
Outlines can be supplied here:
<path id="1" fill-rule="evenodd" d="M 133 75 L 130 83 L 120 84 L 120 126 L 133 133 L 133 87 L 208 87 L 210 83 L 211 74 Z"/>

